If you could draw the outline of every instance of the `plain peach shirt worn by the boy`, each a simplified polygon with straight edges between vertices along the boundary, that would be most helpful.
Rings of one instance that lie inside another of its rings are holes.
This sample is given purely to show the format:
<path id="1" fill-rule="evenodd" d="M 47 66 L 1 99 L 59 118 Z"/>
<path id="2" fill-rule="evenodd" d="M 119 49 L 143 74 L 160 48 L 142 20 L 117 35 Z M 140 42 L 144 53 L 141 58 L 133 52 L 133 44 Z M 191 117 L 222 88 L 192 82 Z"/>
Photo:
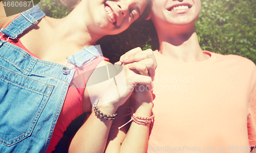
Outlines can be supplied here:
<path id="1" fill-rule="evenodd" d="M 203 52 L 210 58 L 186 63 L 154 51 L 148 152 L 250 152 L 248 146 L 256 145 L 255 64 Z"/>

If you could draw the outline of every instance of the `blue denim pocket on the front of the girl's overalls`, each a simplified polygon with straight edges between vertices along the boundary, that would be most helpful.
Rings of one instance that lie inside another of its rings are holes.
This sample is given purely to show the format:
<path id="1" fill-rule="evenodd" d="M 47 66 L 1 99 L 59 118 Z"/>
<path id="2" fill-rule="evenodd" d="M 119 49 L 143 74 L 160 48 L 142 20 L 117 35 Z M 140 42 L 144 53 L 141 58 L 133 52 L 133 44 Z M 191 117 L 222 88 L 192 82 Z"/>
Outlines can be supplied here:
<path id="1" fill-rule="evenodd" d="M 29 137 L 53 85 L 0 65 L 0 143 L 11 146 Z"/>

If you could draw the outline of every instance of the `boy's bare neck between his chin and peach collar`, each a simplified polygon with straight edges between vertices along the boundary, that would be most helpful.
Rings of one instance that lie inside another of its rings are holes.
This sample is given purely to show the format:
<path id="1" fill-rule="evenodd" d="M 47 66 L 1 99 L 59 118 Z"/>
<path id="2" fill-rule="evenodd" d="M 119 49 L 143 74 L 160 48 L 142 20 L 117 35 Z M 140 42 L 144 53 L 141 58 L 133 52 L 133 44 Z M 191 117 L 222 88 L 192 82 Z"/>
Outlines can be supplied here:
<path id="1" fill-rule="evenodd" d="M 173 60 L 198 62 L 209 58 L 200 48 L 195 28 L 158 30 L 159 52 Z"/>

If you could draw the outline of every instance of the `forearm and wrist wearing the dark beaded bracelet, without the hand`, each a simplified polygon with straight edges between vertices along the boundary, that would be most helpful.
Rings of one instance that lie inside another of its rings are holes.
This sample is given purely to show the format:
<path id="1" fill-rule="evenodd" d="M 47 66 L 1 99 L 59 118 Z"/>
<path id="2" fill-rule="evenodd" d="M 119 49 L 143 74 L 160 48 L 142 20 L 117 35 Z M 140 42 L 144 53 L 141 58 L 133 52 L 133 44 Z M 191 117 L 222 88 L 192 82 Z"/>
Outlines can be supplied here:
<path id="1" fill-rule="evenodd" d="M 108 104 L 98 106 L 104 114 L 114 114 L 116 108 Z M 95 115 L 94 112 L 88 120 L 80 127 L 69 147 L 69 152 L 100 153 L 105 149 L 112 121 L 104 120 Z"/>

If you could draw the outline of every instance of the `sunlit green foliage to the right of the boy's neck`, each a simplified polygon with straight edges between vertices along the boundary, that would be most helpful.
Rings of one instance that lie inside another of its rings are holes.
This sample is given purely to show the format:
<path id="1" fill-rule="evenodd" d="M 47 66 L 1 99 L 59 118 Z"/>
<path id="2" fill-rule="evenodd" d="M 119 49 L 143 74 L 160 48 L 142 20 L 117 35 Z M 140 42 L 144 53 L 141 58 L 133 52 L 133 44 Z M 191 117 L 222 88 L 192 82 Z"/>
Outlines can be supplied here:
<path id="1" fill-rule="evenodd" d="M 256 63 L 256 1 L 202 0 L 196 22 L 203 50 L 236 54 Z"/>

